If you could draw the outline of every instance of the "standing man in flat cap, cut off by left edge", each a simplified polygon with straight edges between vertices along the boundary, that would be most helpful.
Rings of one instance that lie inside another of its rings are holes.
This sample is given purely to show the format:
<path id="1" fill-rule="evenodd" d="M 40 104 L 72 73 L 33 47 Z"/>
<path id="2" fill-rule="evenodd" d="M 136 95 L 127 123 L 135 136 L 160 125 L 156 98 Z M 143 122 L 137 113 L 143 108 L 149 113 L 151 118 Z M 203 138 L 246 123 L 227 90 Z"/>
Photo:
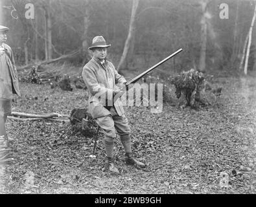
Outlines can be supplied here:
<path id="1" fill-rule="evenodd" d="M 6 32 L 10 29 L 0 25 L 0 148 L 5 151 L 8 148 L 8 136 L 5 129 L 7 115 L 12 112 L 13 94 L 20 96 L 17 70 L 14 63 L 14 55 L 10 46 L 6 45 Z M 6 154 L 0 155 L 0 162 L 6 158 Z"/>

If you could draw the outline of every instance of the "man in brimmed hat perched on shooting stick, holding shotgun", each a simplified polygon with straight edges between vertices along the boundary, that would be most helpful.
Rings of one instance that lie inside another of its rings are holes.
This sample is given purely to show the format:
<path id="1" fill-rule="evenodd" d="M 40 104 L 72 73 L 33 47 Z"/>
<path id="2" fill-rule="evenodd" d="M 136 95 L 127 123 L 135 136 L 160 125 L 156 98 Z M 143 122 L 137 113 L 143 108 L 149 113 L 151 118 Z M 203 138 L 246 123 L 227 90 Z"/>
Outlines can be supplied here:
<path id="1" fill-rule="evenodd" d="M 104 143 L 108 160 L 105 169 L 119 173 L 113 162 L 115 129 L 119 133 L 124 147 L 126 164 L 141 167 L 145 167 L 145 164 L 132 156 L 130 127 L 124 115 L 121 100 L 118 98 L 113 103 L 113 96 L 121 92 L 126 80 L 118 74 L 113 64 L 106 60 L 108 47 L 110 45 L 106 44 L 102 36 L 93 38 L 93 44 L 89 47 L 89 50 L 93 52 L 93 58 L 84 66 L 82 77 L 90 93 L 89 113 L 95 118 L 106 137 Z"/>

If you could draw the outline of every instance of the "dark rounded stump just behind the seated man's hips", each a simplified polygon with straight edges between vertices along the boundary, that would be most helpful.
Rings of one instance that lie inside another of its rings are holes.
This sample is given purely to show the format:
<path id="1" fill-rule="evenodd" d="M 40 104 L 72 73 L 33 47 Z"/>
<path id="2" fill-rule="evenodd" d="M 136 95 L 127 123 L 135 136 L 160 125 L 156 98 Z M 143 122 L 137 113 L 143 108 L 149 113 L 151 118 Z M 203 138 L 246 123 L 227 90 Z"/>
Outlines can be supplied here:
<path id="1" fill-rule="evenodd" d="M 73 109 L 70 120 L 73 130 L 84 136 L 93 136 L 97 132 L 97 123 L 87 109 Z"/>

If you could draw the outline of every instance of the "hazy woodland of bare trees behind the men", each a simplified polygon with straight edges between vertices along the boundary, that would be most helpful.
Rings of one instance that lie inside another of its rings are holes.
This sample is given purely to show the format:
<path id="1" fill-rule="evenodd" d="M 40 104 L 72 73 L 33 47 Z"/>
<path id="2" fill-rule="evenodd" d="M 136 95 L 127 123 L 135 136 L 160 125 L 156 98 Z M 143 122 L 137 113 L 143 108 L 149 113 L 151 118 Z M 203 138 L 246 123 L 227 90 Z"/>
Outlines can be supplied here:
<path id="1" fill-rule="evenodd" d="M 17 65 L 74 54 L 66 62 L 82 67 L 87 47 L 102 35 L 112 46 L 109 58 L 122 71 L 146 69 L 182 48 L 165 66 L 172 71 L 239 71 L 255 1 L 198 0 L 2 0 L 1 24 L 10 27 L 8 43 Z M 26 19 L 27 3 L 34 19 Z M 228 19 L 219 6 L 229 6 Z M 13 5 L 12 8 L 3 6 Z M 131 17 L 132 20 L 131 21 Z M 129 36 L 128 36 L 129 34 Z M 129 40 L 127 41 L 127 38 Z M 248 70 L 255 70 L 255 29 Z M 124 44 L 127 43 L 124 55 Z"/>

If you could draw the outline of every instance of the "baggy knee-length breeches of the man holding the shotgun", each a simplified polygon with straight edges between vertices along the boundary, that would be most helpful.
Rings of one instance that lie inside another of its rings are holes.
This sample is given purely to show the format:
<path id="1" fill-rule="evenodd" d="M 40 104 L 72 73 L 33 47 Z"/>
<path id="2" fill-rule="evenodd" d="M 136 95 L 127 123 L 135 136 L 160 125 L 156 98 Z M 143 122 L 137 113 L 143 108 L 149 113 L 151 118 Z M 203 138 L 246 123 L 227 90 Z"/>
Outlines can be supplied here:
<path id="1" fill-rule="evenodd" d="M 115 111 L 115 107 L 111 107 L 110 113 L 111 115 L 99 117 L 95 120 L 104 135 L 108 136 L 108 138 L 115 138 L 115 129 L 121 138 L 122 136 L 130 135 L 130 127 L 127 118 L 125 116 L 119 116 L 117 111 Z"/>

